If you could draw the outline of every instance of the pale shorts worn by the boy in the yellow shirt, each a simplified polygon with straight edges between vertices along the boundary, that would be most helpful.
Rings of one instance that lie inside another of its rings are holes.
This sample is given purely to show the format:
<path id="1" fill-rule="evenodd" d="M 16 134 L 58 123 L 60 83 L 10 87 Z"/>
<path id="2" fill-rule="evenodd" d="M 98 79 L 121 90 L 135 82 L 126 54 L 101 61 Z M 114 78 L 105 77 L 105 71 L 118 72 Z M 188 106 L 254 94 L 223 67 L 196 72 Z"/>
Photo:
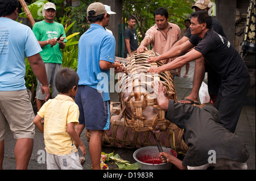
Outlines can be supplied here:
<path id="1" fill-rule="evenodd" d="M 46 152 L 47 170 L 82 170 L 79 159 L 79 152 L 71 154 L 55 155 Z"/>

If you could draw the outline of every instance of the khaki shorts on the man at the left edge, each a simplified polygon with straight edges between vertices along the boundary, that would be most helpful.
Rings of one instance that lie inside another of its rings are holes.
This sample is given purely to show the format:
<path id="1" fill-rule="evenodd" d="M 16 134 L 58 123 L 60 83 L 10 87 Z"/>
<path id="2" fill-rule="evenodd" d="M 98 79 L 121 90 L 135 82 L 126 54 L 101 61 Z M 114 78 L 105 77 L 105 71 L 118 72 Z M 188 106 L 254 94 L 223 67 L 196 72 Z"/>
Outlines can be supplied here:
<path id="1" fill-rule="evenodd" d="M 27 90 L 0 91 L 0 141 L 5 139 L 8 124 L 15 139 L 34 138 L 34 117 Z"/>

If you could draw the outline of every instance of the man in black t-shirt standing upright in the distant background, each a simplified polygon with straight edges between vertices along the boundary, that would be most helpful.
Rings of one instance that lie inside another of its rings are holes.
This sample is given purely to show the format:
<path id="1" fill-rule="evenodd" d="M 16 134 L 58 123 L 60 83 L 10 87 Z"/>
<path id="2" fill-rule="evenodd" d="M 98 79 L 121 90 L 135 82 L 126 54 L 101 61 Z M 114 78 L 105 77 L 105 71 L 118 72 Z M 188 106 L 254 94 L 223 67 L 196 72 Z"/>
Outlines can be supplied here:
<path id="1" fill-rule="evenodd" d="M 125 30 L 124 37 L 125 37 L 125 53 L 124 57 L 126 58 L 131 52 L 137 50 L 138 48 L 138 38 L 137 38 L 137 31 L 134 29 L 136 25 L 136 20 L 133 16 L 130 16 L 127 19 L 128 27 Z"/>

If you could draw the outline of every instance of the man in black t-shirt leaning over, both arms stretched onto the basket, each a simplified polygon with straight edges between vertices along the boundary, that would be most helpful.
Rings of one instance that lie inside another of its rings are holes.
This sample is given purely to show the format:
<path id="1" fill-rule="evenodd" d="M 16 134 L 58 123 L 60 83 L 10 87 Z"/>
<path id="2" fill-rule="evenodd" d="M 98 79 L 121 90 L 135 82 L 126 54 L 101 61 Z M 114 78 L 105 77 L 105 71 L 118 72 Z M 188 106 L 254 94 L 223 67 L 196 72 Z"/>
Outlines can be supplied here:
<path id="1" fill-rule="evenodd" d="M 212 29 L 212 19 L 207 12 L 196 11 L 191 15 L 192 36 L 189 41 L 175 47 L 172 52 L 167 52 L 159 57 L 149 57 L 148 61 L 165 60 L 170 58 L 170 54 L 176 57 L 193 47 L 195 48 L 169 64 L 148 69 L 148 72 L 161 73 L 177 69 L 203 56 L 210 68 L 221 77 L 221 85 L 214 106 L 220 113 L 220 124 L 234 133 L 243 100 L 250 86 L 249 72 L 233 45 Z"/>

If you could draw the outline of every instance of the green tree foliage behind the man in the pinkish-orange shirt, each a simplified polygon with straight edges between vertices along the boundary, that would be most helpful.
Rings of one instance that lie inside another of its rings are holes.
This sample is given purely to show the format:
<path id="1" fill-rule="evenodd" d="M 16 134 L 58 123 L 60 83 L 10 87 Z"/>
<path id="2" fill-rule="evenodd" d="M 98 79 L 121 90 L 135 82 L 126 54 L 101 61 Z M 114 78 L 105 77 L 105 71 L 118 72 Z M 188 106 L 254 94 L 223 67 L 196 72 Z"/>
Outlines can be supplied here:
<path id="1" fill-rule="evenodd" d="M 184 28 L 184 20 L 193 12 L 193 0 L 123 0 L 123 21 L 130 15 L 136 18 L 137 31 L 143 39 L 148 28 L 155 24 L 153 13 L 159 7 L 164 7 L 169 13 L 169 22 Z"/>

